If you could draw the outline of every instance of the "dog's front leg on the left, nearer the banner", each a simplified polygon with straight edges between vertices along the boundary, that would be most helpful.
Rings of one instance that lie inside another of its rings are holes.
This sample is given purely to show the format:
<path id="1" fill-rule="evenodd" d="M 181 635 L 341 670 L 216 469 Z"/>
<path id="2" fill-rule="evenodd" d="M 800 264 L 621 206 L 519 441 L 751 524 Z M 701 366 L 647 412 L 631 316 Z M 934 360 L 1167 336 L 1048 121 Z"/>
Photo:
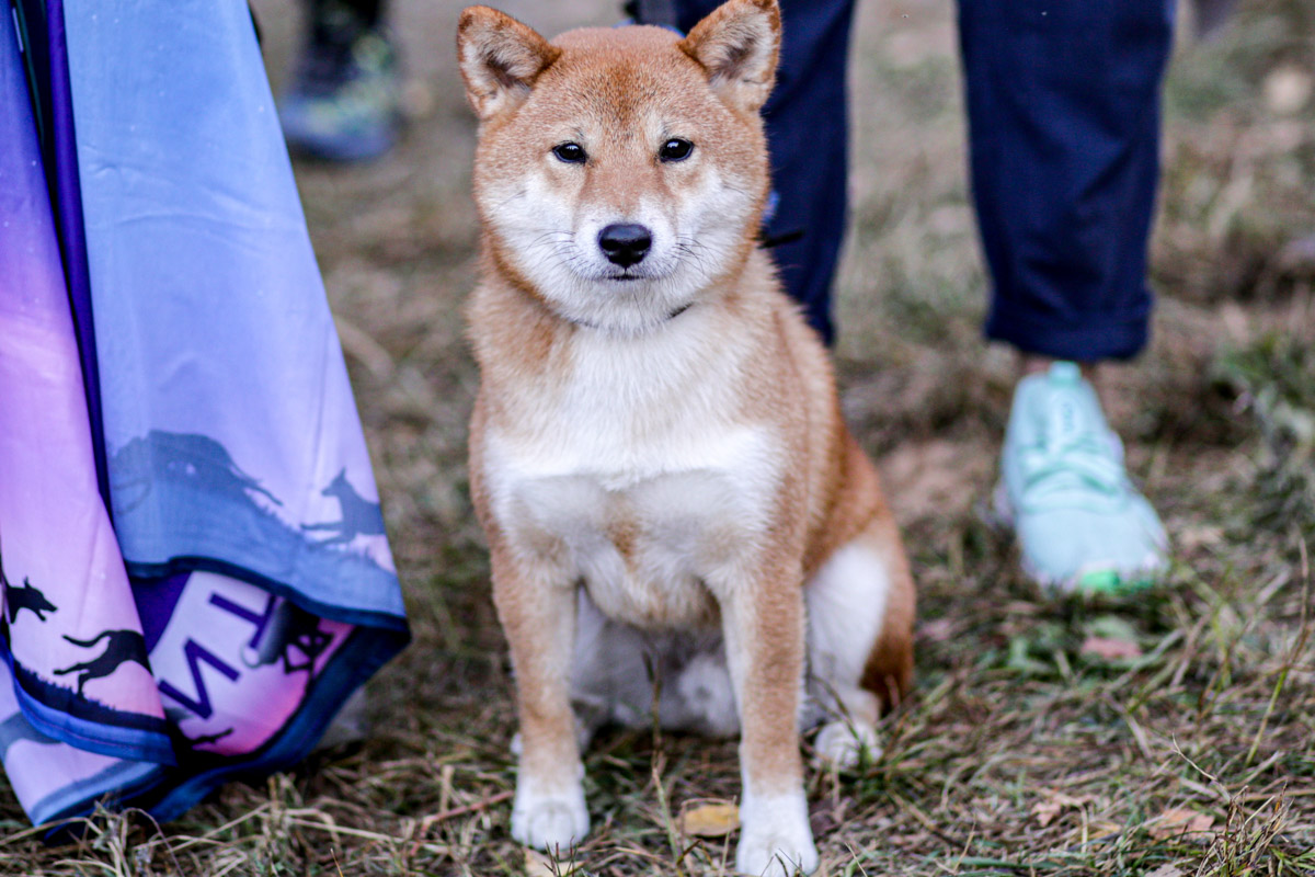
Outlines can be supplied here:
<path id="1" fill-rule="evenodd" d="M 589 832 L 569 697 L 576 586 L 494 548 L 493 601 L 512 647 L 521 719 L 512 836 L 565 852 Z"/>

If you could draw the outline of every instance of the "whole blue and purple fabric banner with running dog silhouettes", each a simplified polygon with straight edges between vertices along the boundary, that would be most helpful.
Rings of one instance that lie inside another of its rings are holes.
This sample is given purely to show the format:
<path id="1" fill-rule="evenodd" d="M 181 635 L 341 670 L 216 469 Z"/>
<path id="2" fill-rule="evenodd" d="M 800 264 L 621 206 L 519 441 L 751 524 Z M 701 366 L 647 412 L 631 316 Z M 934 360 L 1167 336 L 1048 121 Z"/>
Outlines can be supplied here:
<path id="1" fill-rule="evenodd" d="M 405 644 L 401 592 L 246 4 L 26 7 L 50 118 L 42 154 L 0 17 L 0 756 L 34 822 L 170 818 L 302 757 Z"/>

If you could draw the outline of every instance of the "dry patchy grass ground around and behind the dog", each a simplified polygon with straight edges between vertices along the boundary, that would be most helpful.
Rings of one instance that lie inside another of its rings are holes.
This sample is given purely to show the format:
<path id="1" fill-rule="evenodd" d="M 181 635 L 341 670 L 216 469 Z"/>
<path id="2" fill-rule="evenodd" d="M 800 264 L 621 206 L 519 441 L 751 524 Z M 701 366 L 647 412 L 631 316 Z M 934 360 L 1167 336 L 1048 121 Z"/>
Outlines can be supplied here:
<path id="1" fill-rule="evenodd" d="M 37 844 L 0 793 L 0 872 L 726 872 L 734 836 L 690 838 L 680 815 L 735 794 L 732 743 L 605 734 L 575 861 L 546 866 L 508 834 L 512 684 L 463 459 L 476 379 L 458 317 L 475 243 L 459 5 L 396 1 L 405 142 L 370 167 L 297 168 L 416 632 L 371 688 L 373 738 L 162 828 L 97 818 L 74 847 Z M 614 14 L 502 5 L 546 32 Z M 293 11 L 256 8 L 277 80 Z M 1177 560 L 1151 594 L 1055 601 L 982 511 L 1014 363 L 980 339 L 953 5 L 863 4 L 836 356 L 914 557 L 918 689 L 881 757 L 810 773 L 823 873 L 1315 873 L 1312 34 L 1304 0 L 1243 0 L 1216 39 L 1182 41 L 1155 342 L 1107 375 Z"/>

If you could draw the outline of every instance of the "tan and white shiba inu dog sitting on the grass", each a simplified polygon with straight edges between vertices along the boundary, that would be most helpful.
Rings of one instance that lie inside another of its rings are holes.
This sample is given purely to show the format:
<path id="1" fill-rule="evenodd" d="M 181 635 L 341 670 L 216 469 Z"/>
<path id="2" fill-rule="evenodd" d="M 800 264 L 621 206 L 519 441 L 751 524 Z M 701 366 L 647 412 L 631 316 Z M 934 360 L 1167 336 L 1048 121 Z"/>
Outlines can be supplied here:
<path id="1" fill-rule="evenodd" d="M 526 844 L 585 836 L 580 747 L 656 699 L 667 727 L 742 735 L 736 868 L 811 872 L 801 726 L 825 719 L 815 748 L 853 761 L 910 682 L 899 535 L 755 243 L 780 36 L 775 0 L 685 38 L 460 20 L 483 222 L 471 486 Z"/>

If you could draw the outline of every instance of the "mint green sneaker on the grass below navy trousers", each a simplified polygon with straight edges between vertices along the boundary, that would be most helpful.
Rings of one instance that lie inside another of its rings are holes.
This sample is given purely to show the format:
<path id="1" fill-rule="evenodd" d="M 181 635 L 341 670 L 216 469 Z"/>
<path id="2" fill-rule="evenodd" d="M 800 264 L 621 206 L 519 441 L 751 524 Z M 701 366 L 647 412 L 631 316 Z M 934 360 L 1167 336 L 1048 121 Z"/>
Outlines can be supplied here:
<path id="1" fill-rule="evenodd" d="M 1164 526 L 1128 480 L 1123 444 L 1074 363 L 1019 381 L 995 509 L 1014 526 L 1023 572 L 1043 586 L 1130 590 L 1168 567 Z"/>

